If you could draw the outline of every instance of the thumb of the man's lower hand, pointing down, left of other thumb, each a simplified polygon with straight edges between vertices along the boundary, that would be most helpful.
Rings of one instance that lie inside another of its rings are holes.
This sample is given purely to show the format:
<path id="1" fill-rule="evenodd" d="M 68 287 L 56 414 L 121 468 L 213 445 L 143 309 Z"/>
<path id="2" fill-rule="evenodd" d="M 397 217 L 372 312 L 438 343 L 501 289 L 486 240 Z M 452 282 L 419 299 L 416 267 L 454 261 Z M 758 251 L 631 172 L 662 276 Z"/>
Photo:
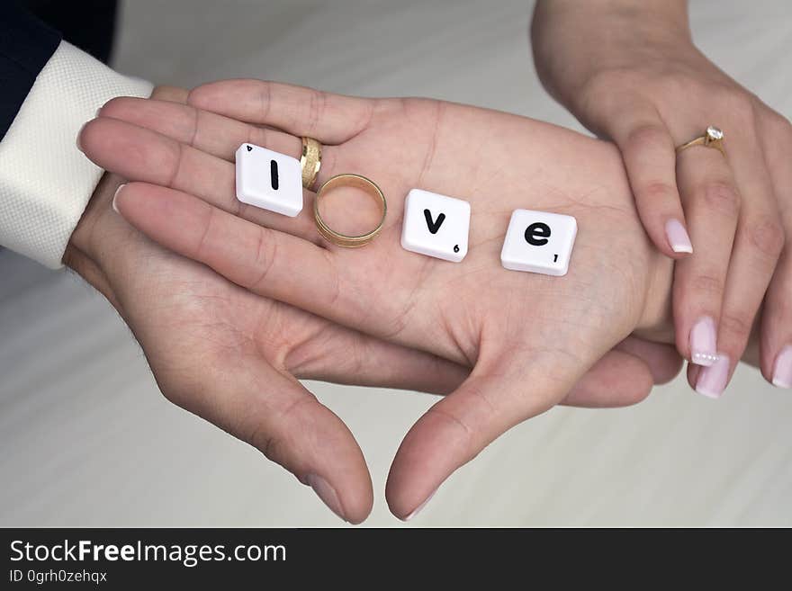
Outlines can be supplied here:
<path id="1" fill-rule="evenodd" d="M 224 356 L 222 363 L 202 364 L 181 372 L 174 385 L 161 377 L 170 368 L 154 369 L 175 404 L 256 447 L 311 486 L 342 519 L 362 522 L 374 494 L 363 453 L 347 425 L 299 381 L 257 357 L 239 361 L 234 367 Z"/>

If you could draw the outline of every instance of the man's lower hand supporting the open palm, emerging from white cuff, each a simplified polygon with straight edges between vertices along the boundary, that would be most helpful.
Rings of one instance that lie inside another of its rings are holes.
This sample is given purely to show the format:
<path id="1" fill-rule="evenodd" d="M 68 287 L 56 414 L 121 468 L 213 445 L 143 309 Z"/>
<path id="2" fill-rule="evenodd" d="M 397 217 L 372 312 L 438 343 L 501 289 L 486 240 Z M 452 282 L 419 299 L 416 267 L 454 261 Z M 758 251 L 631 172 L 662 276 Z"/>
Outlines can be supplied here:
<path id="1" fill-rule="evenodd" d="M 176 108 L 186 95 L 158 88 L 154 96 L 171 102 L 151 103 Z M 119 184 L 121 178 L 105 175 L 65 262 L 118 309 L 168 399 L 282 464 L 342 518 L 365 519 L 373 494 L 363 454 L 347 426 L 295 378 L 444 394 L 470 368 L 254 295 L 153 244 L 112 211 Z M 668 347 L 627 339 L 566 402 L 637 402 L 653 380 L 679 371 L 674 356 Z"/>

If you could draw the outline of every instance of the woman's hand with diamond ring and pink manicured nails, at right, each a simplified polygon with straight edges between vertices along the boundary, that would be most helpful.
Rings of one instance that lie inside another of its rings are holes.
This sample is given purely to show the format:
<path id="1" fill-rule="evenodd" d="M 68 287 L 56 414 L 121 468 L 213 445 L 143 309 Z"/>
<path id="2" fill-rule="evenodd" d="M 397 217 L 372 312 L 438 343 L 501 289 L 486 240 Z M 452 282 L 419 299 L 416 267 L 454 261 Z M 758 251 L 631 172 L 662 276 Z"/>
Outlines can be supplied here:
<path id="1" fill-rule="evenodd" d="M 678 259 L 676 345 L 693 363 L 721 357 L 689 366 L 691 385 L 719 395 L 764 300 L 761 370 L 792 386 L 789 121 L 693 45 L 681 0 L 540 0 L 532 37 L 545 87 L 617 143 L 644 228 Z M 725 157 L 675 155 L 708 125 L 725 131 Z"/>

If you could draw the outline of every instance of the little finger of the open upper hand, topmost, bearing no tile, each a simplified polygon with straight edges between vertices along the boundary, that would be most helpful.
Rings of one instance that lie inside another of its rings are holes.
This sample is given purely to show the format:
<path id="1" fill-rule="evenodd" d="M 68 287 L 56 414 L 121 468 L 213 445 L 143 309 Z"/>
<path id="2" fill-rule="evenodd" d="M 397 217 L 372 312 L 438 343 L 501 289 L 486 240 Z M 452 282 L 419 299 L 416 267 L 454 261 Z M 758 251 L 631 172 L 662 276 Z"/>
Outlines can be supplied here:
<path id="1" fill-rule="evenodd" d="M 341 144 L 368 125 L 375 102 L 264 80 L 223 80 L 198 86 L 187 103 L 232 119 L 269 125 L 322 144 Z"/>

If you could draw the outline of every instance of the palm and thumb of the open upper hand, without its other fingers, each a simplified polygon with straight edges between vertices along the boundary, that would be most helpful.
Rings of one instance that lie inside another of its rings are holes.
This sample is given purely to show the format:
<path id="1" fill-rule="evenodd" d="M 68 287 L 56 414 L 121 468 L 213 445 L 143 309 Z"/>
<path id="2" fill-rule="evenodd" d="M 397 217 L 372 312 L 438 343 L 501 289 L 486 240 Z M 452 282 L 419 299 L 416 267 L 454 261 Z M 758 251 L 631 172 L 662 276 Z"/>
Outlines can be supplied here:
<path id="1" fill-rule="evenodd" d="M 525 120 L 502 113 L 399 101 L 385 103 L 363 130 L 332 149 L 326 176 L 370 175 L 391 197 L 391 212 L 372 245 L 331 246 L 333 264 L 312 269 L 318 276 L 331 269 L 319 283 L 335 288 L 314 310 L 474 366 L 471 378 L 402 443 L 389 479 L 397 515 L 511 425 L 554 406 L 641 323 L 658 261 L 636 223 L 616 152 L 549 126 L 527 128 Z M 462 264 L 399 246 L 403 196 L 415 187 L 471 202 Z M 501 267 L 504 233 L 518 208 L 578 219 L 565 277 Z M 284 265 L 309 258 L 296 247 L 290 253 L 279 246 L 276 255 Z M 271 273 L 280 280 L 281 273 Z"/>

